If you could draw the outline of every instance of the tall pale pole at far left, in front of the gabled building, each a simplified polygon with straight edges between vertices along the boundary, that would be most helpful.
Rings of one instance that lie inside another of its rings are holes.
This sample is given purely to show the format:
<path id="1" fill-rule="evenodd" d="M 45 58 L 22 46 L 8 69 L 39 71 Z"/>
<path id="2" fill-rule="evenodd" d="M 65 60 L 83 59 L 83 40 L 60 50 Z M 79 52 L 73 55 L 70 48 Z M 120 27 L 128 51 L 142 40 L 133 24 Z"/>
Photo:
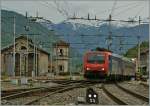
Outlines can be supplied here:
<path id="1" fill-rule="evenodd" d="M 14 16 L 14 36 L 13 36 L 13 39 L 14 39 L 14 51 L 13 51 L 13 71 L 14 71 L 14 76 L 15 76 L 15 66 L 16 66 L 16 64 L 15 64 L 15 62 L 16 62 L 16 57 L 15 57 L 15 55 L 16 55 L 16 53 L 15 53 L 15 49 L 16 49 L 16 45 L 15 45 L 15 43 L 16 43 L 16 41 L 15 41 L 15 36 L 16 36 L 16 17 Z"/>

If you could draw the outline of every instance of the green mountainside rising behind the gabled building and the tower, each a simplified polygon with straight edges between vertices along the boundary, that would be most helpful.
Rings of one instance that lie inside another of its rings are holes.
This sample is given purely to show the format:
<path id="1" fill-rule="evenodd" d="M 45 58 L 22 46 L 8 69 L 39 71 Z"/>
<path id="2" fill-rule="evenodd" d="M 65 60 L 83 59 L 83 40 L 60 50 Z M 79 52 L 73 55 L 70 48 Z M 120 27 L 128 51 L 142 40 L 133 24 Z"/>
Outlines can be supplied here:
<path id="1" fill-rule="evenodd" d="M 29 22 L 25 16 L 14 11 L 1 10 L 1 47 L 5 47 L 13 43 L 13 17 L 16 17 L 16 37 L 21 34 L 28 34 L 33 40 L 35 34 L 35 43 L 45 51 L 51 53 L 52 43 L 60 40 L 59 36 L 54 31 L 47 29 L 38 22 Z M 29 31 L 25 31 L 25 26 L 29 26 Z M 33 40 L 34 42 L 34 40 Z M 74 58 L 80 55 L 75 49 L 70 49 L 70 57 L 72 65 L 81 64 L 81 58 Z"/>

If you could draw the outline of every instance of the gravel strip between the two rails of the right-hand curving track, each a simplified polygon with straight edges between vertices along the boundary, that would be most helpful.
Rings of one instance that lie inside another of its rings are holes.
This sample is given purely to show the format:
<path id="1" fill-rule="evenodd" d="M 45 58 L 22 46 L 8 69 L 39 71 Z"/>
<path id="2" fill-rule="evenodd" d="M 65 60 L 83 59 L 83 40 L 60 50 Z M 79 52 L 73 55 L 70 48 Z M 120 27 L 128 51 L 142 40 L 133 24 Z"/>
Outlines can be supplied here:
<path id="1" fill-rule="evenodd" d="M 108 91 L 111 91 L 111 93 L 113 95 L 115 95 L 116 97 L 119 97 L 119 99 L 125 101 L 127 104 L 130 104 L 130 105 L 144 105 L 144 104 L 148 104 L 148 103 L 145 103 L 144 101 L 122 91 L 121 89 L 119 89 L 118 87 L 116 87 L 115 85 L 113 84 L 108 84 L 108 85 L 105 85 L 106 89 L 108 89 Z"/>

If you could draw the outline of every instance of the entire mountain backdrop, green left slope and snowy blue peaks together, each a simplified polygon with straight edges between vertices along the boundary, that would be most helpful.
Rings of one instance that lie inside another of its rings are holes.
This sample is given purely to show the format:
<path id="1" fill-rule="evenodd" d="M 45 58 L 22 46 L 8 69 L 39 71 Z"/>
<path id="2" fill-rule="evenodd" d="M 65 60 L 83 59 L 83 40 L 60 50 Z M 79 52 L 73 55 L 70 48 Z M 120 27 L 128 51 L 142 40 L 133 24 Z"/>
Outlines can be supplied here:
<path id="1" fill-rule="evenodd" d="M 108 23 L 92 22 L 92 21 L 63 21 L 58 24 L 47 22 L 29 23 L 25 16 L 13 11 L 1 10 L 1 46 L 2 48 L 13 43 L 13 17 L 16 17 L 16 37 L 20 34 L 36 34 L 35 43 L 38 43 L 43 49 L 49 53 L 52 50 L 52 43 L 63 39 L 70 43 L 70 66 L 76 70 L 77 66 L 82 64 L 83 54 L 96 47 L 107 48 L 106 38 L 108 38 Z M 30 26 L 29 31 L 25 31 L 24 26 Z M 149 25 L 142 24 L 122 24 L 112 23 L 112 36 L 123 36 L 123 50 L 125 53 L 129 48 L 137 44 L 137 35 L 140 34 L 140 41 L 148 41 Z M 140 31 L 140 33 L 139 33 Z M 90 36 L 85 36 L 90 35 Z M 130 36 L 130 37 L 125 37 Z M 29 35 L 33 39 L 33 35 Z M 33 41 L 34 42 L 34 41 Z M 131 45 L 134 44 L 134 45 Z M 120 53 L 119 37 L 113 37 L 111 50 Z"/>

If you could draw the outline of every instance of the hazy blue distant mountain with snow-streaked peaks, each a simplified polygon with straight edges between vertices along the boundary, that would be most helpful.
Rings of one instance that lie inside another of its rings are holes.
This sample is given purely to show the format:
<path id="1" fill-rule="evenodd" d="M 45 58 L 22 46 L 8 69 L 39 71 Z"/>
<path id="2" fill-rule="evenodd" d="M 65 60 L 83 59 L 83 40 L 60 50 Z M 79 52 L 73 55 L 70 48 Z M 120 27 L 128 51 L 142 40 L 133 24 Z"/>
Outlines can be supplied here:
<path id="1" fill-rule="evenodd" d="M 56 31 L 60 38 L 70 42 L 71 47 L 77 49 L 81 54 L 96 47 L 107 48 L 109 25 L 106 22 L 69 20 L 58 24 L 42 23 L 42 25 Z M 138 42 L 138 35 L 140 35 L 141 42 L 148 41 L 149 38 L 148 24 L 112 22 L 110 28 L 113 36 L 111 50 L 115 53 L 120 53 L 119 48 L 123 48 L 121 52 L 125 53 L 129 48 L 135 46 Z M 119 45 L 120 40 L 122 46 Z"/>

